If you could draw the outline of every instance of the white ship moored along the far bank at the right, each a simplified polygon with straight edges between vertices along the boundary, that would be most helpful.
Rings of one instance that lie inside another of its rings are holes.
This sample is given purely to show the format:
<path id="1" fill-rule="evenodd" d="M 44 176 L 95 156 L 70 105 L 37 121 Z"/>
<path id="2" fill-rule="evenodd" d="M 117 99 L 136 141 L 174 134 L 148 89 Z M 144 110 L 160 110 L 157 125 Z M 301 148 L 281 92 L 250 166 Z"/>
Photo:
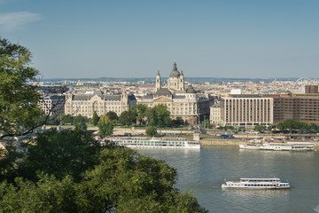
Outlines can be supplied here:
<path id="1" fill-rule="evenodd" d="M 239 145 L 241 149 L 274 150 L 274 151 L 313 151 L 315 144 L 307 141 L 271 142 L 265 144 Z"/>

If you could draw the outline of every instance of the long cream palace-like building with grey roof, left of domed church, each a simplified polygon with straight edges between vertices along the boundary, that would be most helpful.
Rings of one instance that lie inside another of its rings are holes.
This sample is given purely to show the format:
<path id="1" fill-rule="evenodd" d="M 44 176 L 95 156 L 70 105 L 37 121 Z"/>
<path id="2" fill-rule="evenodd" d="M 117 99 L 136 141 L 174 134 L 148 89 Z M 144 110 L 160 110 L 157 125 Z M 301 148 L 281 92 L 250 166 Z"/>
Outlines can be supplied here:
<path id="1" fill-rule="evenodd" d="M 98 116 L 113 111 L 118 115 L 128 111 L 129 107 L 136 105 L 134 95 L 122 94 L 109 95 L 102 91 L 87 92 L 85 94 L 66 94 L 65 113 L 77 116 L 81 114 L 91 118 L 94 112 Z"/>

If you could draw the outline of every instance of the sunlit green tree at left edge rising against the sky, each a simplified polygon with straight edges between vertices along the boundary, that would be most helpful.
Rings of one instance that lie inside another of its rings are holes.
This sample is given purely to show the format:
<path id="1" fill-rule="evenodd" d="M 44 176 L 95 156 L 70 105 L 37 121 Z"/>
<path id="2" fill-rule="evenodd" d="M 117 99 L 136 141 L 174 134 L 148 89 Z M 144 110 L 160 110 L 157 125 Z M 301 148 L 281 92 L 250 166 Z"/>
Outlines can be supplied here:
<path id="1" fill-rule="evenodd" d="M 29 83 L 38 71 L 30 63 L 26 47 L 0 37 L 0 138 L 26 135 L 42 125 L 36 122 L 40 93 Z"/>

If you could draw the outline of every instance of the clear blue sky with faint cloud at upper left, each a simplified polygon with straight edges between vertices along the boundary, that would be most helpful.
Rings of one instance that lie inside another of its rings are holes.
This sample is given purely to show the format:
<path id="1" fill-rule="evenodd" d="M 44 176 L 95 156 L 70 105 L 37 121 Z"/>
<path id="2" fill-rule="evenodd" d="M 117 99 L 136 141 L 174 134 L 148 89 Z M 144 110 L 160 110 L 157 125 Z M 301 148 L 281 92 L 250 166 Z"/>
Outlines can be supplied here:
<path id="1" fill-rule="evenodd" d="M 0 0 L 43 78 L 319 77 L 318 0 Z"/>

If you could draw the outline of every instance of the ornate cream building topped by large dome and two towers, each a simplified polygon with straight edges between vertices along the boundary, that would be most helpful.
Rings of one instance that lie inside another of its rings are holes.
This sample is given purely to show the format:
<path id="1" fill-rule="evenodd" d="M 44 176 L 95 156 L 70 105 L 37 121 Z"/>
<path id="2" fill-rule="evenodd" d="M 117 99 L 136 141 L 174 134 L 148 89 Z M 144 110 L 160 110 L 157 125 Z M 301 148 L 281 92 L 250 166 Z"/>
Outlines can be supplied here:
<path id="1" fill-rule="evenodd" d="M 167 88 L 163 88 L 159 71 L 156 76 L 156 92 L 152 95 L 137 99 L 138 104 L 146 106 L 166 105 L 171 113 L 171 118 L 181 117 L 184 122 L 195 124 L 204 119 L 209 119 L 209 97 L 200 96 L 189 87 L 184 88 L 183 71 L 177 70 L 176 63 L 167 80 Z"/>

